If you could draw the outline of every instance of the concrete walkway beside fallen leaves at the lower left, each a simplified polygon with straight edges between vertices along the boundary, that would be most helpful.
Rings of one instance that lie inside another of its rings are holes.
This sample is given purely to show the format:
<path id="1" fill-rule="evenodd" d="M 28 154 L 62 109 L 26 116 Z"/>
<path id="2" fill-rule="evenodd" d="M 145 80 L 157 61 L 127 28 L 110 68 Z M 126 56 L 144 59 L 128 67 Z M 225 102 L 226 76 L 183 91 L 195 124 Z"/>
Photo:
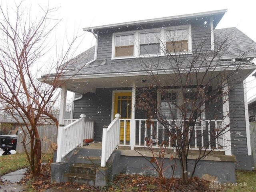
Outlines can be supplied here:
<path id="1" fill-rule="evenodd" d="M 1 176 L 2 182 L 6 182 L 7 184 L 3 184 L 0 186 L 1 192 L 22 192 L 26 191 L 25 187 L 22 184 L 18 184 L 27 171 L 27 168 L 20 169 L 14 172 L 10 172 Z"/>

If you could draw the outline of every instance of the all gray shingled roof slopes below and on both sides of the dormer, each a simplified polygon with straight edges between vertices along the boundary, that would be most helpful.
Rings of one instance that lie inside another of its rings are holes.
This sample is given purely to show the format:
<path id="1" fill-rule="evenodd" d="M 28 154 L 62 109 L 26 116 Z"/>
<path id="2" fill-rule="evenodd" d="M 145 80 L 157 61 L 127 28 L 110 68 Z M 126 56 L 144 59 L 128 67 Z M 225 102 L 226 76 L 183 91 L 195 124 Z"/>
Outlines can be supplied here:
<path id="1" fill-rule="evenodd" d="M 226 38 L 228 37 L 228 40 Z M 244 55 L 255 55 L 256 56 L 256 43 L 246 36 L 243 32 L 237 28 L 224 28 L 214 30 L 214 51 L 218 50 L 221 45 L 221 42 L 225 41 L 225 44 L 220 48 L 223 52 L 218 53 L 219 56 L 228 57 L 228 58 L 239 58 L 244 57 Z M 93 54 L 92 54 L 93 53 Z M 166 56 L 161 57 L 151 57 L 151 58 L 134 58 L 126 59 L 122 61 L 113 61 L 110 64 L 105 64 L 105 60 L 96 60 L 85 66 L 86 62 L 89 62 L 89 59 L 93 60 L 94 56 L 94 47 L 86 50 L 82 54 L 76 56 L 68 63 L 68 69 L 63 72 L 62 76 L 72 76 L 72 75 L 87 75 L 87 74 L 106 74 L 106 73 L 125 73 L 125 72 L 142 72 L 146 70 L 166 70 L 173 69 L 176 65 L 174 60 Z M 216 57 L 218 58 L 218 56 Z M 192 55 L 180 56 L 180 59 L 177 61 L 180 68 L 189 68 L 191 66 Z M 198 66 L 209 66 L 209 60 L 202 61 L 198 60 L 195 63 Z M 212 66 L 228 66 L 232 64 L 232 61 L 220 61 L 214 60 L 211 63 Z M 251 64 L 250 62 L 244 62 L 244 64 Z M 176 67 L 175 67 L 176 68 Z M 54 74 L 48 74 L 42 76 L 52 76 Z"/>

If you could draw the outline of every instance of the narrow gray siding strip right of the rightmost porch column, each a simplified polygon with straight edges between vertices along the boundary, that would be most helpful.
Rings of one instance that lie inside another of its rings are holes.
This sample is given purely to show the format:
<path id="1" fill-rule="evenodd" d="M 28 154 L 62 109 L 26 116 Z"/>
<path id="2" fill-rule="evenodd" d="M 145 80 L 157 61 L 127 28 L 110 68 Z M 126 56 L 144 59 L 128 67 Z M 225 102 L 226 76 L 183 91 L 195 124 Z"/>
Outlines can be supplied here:
<path id="1" fill-rule="evenodd" d="M 247 154 L 243 82 L 241 80 L 230 86 L 229 110 L 232 154 Z"/>

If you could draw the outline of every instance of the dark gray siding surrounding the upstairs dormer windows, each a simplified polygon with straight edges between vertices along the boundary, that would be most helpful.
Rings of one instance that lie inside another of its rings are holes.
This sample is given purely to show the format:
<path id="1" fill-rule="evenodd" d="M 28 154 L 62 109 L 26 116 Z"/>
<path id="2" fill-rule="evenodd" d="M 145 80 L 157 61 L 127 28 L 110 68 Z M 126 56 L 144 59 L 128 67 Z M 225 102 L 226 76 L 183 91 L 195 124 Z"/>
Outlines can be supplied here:
<path id="1" fill-rule="evenodd" d="M 205 22 L 207 22 L 205 24 Z M 142 30 L 142 29 L 150 29 L 150 28 L 160 28 L 160 27 L 168 27 L 168 26 L 179 26 L 191 24 L 192 30 L 192 51 L 196 50 L 211 50 L 211 33 L 210 33 L 210 19 L 209 18 L 198 18 L 197 20 L 179 20 L 178 22 L 163 22 L 156 24 L 148 24 L 142 26 L 130 26 L 113 28 L 109 30 L 100 30 L 98 32 L 98 51 L 97 51 L 97 59 L 102 60 L 106 59 L 106 64 L 110 62 L 118 62 L 120 60 L 111 60 L 111 52 L 112 52 L 112 34 L 115 32 L 126 32 L 132 30 Z M 129 59 L 122 59 L 129 60 Z"/>

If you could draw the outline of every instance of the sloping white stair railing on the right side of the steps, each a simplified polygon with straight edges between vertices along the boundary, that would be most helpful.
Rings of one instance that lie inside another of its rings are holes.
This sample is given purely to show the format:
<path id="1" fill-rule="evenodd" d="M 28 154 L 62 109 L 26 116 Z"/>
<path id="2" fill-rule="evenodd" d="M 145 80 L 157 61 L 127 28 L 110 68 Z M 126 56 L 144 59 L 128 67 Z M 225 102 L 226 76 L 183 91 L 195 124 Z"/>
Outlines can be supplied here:
<path id="1" fill-rule="evenodd" d="M 108 127 L 103 128 L 102 133 L 102 153 L 101 153 L 101 166 L 105 167 L 108 158 L 119 144 L 120 138 L 120 122 L 119 114 L 116 114 L 116 118 L 111 122 Z"/>

